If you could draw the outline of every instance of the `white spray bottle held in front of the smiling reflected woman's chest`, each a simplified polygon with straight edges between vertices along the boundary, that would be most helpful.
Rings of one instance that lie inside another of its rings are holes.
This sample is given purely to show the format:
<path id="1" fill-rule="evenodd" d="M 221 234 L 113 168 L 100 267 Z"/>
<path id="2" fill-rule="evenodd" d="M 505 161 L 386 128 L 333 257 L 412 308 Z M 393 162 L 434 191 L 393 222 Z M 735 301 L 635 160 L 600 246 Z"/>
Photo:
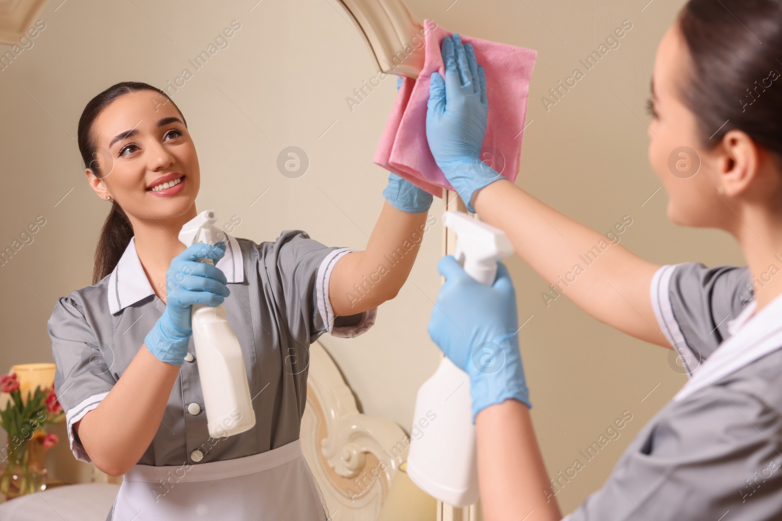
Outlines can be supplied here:
<path id="1" fill-rule="evenodd" d="M 179 240 L 191 244 L 216 244 L 228 237 L 214 226 L 217 217 L 205 210 L 185 223 Z M 212 259 L 198 259 L 214 265 Z M 195 361 L 201 377 L 206 426 L 211 437 L 228 437 L 252 429 L 255 412 L 249 397 L 249 384 L 239 345 L 225 318 L 224 305 L 191 306 Z"/>

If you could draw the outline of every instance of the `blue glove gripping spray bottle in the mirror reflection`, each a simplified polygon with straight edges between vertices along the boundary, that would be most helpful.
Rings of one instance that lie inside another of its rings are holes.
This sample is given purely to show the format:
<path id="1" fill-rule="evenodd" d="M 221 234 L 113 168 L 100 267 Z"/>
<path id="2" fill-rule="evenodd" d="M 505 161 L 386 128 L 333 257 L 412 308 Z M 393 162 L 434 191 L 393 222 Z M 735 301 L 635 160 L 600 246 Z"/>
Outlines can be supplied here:
<path id="1" fill-rule="evenodd" d="M 192 244 L 171 260 L 166 272 L 166 309 L 144 339 L 157 359 L 181 366 L 192 335 L 190 306 L 219 305 L 231 293 L 220 268 L 195 260 L 206 257 L 217 263 L 223 255 L 225 242 L 220 241 L 215 246 Z"/>

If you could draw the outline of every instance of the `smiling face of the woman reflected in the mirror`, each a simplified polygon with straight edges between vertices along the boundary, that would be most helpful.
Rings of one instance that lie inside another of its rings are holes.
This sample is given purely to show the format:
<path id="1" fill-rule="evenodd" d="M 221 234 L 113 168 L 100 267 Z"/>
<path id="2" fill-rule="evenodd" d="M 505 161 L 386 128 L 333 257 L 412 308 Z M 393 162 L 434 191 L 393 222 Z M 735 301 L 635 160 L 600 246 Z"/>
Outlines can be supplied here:
<path id="1" fill-rule="evenodd" d="M 167 98 L 149 90 L 121 96 L 95 119 L 92 135 L 101 176 L 87 170 L 92 189 L 104 200 L 106 194 L 116 200 L 131 223 L 192 213 L 200 184 L 198 156 Z"/>

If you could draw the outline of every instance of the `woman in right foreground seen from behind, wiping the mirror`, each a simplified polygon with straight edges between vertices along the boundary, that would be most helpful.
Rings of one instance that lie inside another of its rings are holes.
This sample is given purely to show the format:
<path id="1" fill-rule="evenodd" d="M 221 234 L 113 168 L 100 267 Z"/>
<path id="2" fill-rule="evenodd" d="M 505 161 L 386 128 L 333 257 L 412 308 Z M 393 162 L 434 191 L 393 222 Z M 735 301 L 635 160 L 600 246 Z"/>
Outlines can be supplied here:
<path id="1" fill-rule="evenodd" d="M 782 519 L 780 49 L 779 0 L 691 0 L 660 42 L 649 160 L 669 218 L 726 230 L 748 266 L 657 266 L 610 244 L 565 289 L 601 322 L 675 348 L 691 376 L 569 521 Z M 486 81 L 456 35 L 443 42 L 443 59 L 444 82 L 432 77 L 432 154 L 481 218 L 556 284 L 605 237 L 507 180 L 478 175 Z M 683 146 L 699 170 L 669 167 L 672 152 L 674 162 L 687 160 L 676 150 Z M 453 257 L 439 269 L 447 282 L 429 333 L 471 376 L 484 519 L 560 519 L 552 485 L 567 478 L 549 480 L 537 447 L 507 269 L 493 287 Z"/>

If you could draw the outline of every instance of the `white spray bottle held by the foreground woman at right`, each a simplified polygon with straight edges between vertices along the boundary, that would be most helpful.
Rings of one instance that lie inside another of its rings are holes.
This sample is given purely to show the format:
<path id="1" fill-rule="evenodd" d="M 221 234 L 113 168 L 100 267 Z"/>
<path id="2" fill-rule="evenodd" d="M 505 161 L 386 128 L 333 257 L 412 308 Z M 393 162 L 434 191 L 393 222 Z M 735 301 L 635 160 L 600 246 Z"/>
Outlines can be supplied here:
<path id="1" fill-rule="evenodd" d="M 457 234 L 454 257 L 465 272 L 481 284 L 494 284 L 497 261 L 513 253 L 504 232 L 464 212 L 446 212 L 443 223 Z M 443 358 L 418 390 L 413 418 L 414 423 L 421 418 L 430 421 L 420 437 L 411 439 L 407 475 L 427 494 L 449 505 L 463 507 L 478 501 L 468 374 Z"/>

